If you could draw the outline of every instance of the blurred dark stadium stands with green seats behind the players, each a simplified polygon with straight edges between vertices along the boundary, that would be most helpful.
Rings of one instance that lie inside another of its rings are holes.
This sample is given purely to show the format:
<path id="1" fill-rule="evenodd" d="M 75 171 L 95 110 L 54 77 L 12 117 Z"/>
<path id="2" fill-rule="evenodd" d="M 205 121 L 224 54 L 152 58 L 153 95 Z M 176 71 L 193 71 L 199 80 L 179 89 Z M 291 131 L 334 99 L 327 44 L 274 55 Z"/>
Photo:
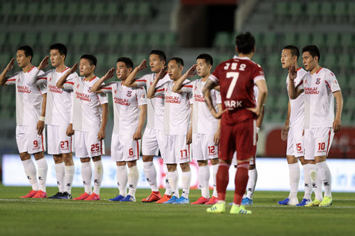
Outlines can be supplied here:
<path id="1" fill-rule="evenodd" d="M 319 65 L 336 74 L 344 97 L 342 130 L 334 137 L 329 158 L 355 159 L 355 1 L 0 0 L 0 69 L 15 57 L 19 45 L 33 47 L 32 62 L 38 65 L 56 42 L 67 45 L 70 67 L 82 54 L 94 54 L 97 76 L 115 67 L 120 56 L 139 65 L 152 49 L 165 51 L 167 58 L 183 58 L 184 71 L 200 53 L 210 53 L 215 67 L 235 55 L 235 36 L 245 31 L 255 36 L 253 60 L 264 69 L 269 87 L 258 156 L 285 156 L 280 132 L 288 100 L 282 48 L 294 44 L 301 51 L 316 44 L 321 52 Z M 18 70 L 15 66 L 13 71 Z M 149 67 L 140 75 L 147 73 Z M 14 87 L 0 88 L 0 122 L 0 155 L 18 153 Z M 112 126 L 110 112 L 107 154 Z"/>

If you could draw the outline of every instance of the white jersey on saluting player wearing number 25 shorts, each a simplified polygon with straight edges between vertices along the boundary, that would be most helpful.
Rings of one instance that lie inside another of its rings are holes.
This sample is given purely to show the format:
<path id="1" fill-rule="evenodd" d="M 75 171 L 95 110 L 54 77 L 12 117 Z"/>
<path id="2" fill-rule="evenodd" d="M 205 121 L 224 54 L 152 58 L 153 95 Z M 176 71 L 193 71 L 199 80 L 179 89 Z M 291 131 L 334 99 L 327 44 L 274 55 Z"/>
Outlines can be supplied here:
<path id="1" fill-rule="evenodd" d="M 64 83 L 64 88 L 74 92 L 72 128 L 85 132 L 98 132 L 101 126 L 102 104 L 108 103 L 107 94 L 96 94 L 91 87 L 98 77 L 85 81 L 74 77 L 73 82 Z"/>

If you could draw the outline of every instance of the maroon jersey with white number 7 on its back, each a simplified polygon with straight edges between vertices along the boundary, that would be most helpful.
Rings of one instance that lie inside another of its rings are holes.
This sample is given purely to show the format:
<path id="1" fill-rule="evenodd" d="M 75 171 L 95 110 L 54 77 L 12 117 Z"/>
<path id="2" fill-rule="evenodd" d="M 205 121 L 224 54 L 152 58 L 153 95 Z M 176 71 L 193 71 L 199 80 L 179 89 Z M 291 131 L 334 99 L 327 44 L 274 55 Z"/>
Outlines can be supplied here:
<path id="1" fill-rule="evenodd" d="M 247 119 L 256 119 L 256 115 L 246 108 L 255 108 L 254 83 L 265 80 L 260 65 L 249 58 L 234 57 L 221 62 L 209 77 L 221 85 L 223 110 L 222 125 L 235 125 Z"/>

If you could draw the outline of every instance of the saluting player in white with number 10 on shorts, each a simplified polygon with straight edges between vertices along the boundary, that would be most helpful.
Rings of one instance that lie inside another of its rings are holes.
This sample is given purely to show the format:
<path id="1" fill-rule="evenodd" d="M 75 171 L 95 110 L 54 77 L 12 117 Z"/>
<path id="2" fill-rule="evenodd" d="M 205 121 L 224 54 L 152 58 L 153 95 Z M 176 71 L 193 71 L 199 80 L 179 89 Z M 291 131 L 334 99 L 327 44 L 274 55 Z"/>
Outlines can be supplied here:
<path id="1" fill-rule="evenodd" d="M 294 67 L 290 69 L 289 95 L 297 99 L 305 94 L 304 110 L 304 149 L 305 159 L 310 163 L 310 180 L 315 190 L 315 200 L 306 206 L 326 207 L 333 203 L 331 196 L 331 171 L 326 164 L 334 133 L 341 127 L 342 92 L 332 71 L 319 66 L 320 53 L 315 45 L 302 49 L 303 66 L 308 71 L 303 78 L 303 87 L 294 87 L 292 83 L 297 78 Z M 336 98 L 336 117 L 334 118 L 334 97 Z M 317 185 L 317 177 L 324 186 Z M 320 191 L 319 191 L 320 189 Z"/>

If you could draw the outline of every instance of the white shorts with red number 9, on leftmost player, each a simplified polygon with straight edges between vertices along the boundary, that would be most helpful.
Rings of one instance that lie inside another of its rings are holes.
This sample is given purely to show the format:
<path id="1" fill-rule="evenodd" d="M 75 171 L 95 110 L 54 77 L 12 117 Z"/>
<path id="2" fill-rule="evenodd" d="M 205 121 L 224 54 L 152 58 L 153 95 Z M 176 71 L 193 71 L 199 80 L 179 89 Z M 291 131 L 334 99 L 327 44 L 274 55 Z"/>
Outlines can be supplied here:
<path id="1" fill-rule="evenodd" d="M 16 142 L 19 153 L 39 153 L 46 150 L 45 129 L 42 135 L 37 134 L 36 125 L 16 126 Z"/>

